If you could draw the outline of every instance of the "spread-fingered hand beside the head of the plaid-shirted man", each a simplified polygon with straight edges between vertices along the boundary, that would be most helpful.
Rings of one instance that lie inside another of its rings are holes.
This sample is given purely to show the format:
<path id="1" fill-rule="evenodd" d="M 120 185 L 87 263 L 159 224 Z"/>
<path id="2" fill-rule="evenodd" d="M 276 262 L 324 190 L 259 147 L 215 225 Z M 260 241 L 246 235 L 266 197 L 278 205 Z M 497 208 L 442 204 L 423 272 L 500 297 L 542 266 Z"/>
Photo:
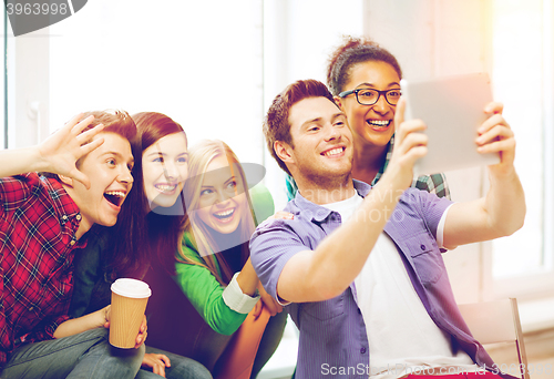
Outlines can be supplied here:
<path id="1" fill-rule="evenodd" d="M 44 162 L 43 171 L 72 177 L 90 188 L 89 177 L 79 171 L 76 162 L 104 143 L 103 139 L 92 140 L 102 132 L 104 125 L 100 124 L 81 133 L 94 120 L 94 116 L 91 115 L 84 120 L 81 117 L 81 114 L 74 116 L 42 142 L 39 145 L 39 155 Z"/>

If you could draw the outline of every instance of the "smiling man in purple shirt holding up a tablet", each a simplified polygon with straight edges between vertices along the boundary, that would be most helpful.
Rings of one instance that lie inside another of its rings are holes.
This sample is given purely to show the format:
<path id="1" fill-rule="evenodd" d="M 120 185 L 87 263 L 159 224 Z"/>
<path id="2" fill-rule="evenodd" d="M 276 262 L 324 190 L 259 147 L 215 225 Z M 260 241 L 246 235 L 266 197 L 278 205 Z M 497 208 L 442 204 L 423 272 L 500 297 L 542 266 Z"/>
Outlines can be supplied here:
<path id="1" fill-rule="evenodd" d="M 403 121 L 403 109 L 401 101 L 397 145 L 373 187 L 352 181 L 352 136 L 325 84 L 293 83 L 267 113 L 269 151 L 299 193 L 285 208 L 294 219 L 261 224 L 250 254 L 265 289 L 288 305 L 300 330 L 299 379 L 496 377 L 458 310 L 440 249 L 523 225 L 513 133 L 502 105 L 489 104 L 476 148 L 500 153 L 501 163 L 489 167 L 485 197 L 452 204 L 408 188 L 427 136 L 418 133 L 423 122 Z"/>

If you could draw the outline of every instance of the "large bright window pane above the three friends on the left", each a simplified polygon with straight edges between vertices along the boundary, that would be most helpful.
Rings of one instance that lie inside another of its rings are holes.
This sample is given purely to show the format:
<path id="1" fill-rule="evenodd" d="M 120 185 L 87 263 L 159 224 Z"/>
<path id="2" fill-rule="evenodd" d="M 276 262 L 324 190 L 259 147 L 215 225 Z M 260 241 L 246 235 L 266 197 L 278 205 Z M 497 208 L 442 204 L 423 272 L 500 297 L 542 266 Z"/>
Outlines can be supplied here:
<path id="1" fill-rule="evenodd" d="M 91 109 L 156 111 L 192 144 L 219 139 L 260 163 L 260 22 L 256 0 L 89 1 L 50 30 L 50 125 Z"/>

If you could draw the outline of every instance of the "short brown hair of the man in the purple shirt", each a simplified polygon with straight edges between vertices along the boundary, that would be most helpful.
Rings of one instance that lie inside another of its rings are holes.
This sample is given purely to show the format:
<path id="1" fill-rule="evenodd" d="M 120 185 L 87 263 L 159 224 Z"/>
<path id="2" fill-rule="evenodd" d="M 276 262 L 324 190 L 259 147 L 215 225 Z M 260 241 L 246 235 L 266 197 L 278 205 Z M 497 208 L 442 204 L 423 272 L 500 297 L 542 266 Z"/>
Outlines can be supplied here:
<path id="1" fill-rule="evenodd" d="M 335 102 L 332 94 L 324 83 L 314 79 L 299 80 L 287 85 L 285 90 L 274 99 L 267 111 L 266 119 L 264 120 L 264 135 L 266 137 L 267 148 L 269 148 L 269 153 L 271 153 L 271 156 L 277 161 L 279 167 L 289 175 L 290 172 L 287 165 L 275 153 L 274 144 L 276 141 L 283 141 L 293 148 L 295 147 L 293 136 L 290 135 L 288 116 L 293 105 L 308 98 L 326 98 Z"/>

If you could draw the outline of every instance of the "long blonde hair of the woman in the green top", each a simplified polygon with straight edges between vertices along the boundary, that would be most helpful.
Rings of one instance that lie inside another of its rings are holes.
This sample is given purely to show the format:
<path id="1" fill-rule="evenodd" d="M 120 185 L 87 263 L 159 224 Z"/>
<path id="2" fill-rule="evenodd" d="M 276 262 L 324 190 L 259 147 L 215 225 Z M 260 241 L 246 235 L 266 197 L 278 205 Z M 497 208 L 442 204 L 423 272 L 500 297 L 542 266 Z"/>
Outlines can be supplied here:
<path id="1" fill-rule="evenodd" d="M 178 260 L 182 263 L 199 265 L 209 269 L 209 272 L 217 278 L 222 285 L 227 285 L 233 277 L 232 268 L 225 263 L 225 260 L 217 260 L 216 253 L 220 253 L 224 249 L 222 246 L 217 245 L 216 238 L 212 235 L 208 226 L 199 218 L 195 209 L 199 207 L 201 190 L 204 182 L 204 175 L 206 174 L 207 166 L 209 163 L 218 157 L 226 156 L 229 162 L 229 166 L 236 168 L 238 173 L 237 177 L 240 177 L 243 182 L 244 192 L 249 206 L 242 207 L 240 223 L 238 227 L 240 228 L 240 240 L 248 242 L 250 239 L 254 229 L 256 228 L 255 215 L 252 211 L 250 195 L 248 192 L 248 184 L 246 182 L 246 176 L 243 166 L 238 162 L 237 156 L 230 150 L 230 147 L 223 141 L 219 140 L 204 140 L 194 145 L 189 150 L 189 161 L 188 161 L 188 178 L 184 187 L 185 204 L 188 211 L 188 218 L 185 223 L 185 233 L 191 236 L 192 243 L 195 245 L 198 252 L 198 260 L 191 259 L 187 257 L 183 250 L 179 249 Z M 240 264 L 244 265 L 248 259 L 250 253 L 248 246 L 245 245 L 242 252 Z M 219 266 L 220 274 L 217 270 Z"/>

